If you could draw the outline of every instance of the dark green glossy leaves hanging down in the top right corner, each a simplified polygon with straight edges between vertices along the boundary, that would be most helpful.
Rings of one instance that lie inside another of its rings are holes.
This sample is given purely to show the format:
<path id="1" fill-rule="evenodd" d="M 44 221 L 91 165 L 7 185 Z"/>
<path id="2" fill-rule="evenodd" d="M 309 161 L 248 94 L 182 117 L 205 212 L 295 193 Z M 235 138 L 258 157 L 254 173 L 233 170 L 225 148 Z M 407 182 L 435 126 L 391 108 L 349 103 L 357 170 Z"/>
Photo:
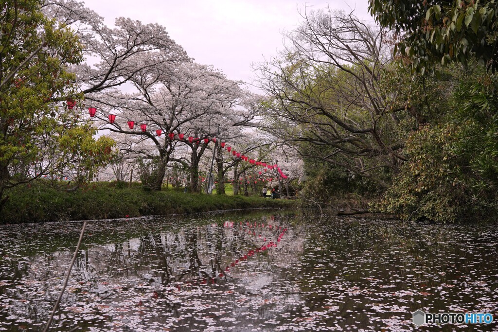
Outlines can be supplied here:
<path id="1" fill-rule="evenodd" d="M 403 40 L 394 47 L 422 74 L 437 64 L 473 57 L 498 69 L 496 0 L 370 0 L 377 21 Z"/>

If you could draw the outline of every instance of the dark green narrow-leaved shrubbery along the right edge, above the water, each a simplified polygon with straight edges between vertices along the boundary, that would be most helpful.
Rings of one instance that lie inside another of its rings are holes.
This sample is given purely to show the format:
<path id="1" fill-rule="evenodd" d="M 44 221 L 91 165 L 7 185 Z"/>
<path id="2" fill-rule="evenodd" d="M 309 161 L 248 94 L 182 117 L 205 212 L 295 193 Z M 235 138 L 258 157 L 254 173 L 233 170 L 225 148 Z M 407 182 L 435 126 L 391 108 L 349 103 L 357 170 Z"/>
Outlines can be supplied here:
<path id="1" fill-rule="evenodd" d="M 455 91 L 454 119 L 461 123 L 453 153 L 461 159 L 459 179 L 474 204 L 498 214 L 498 75 L 477 70 Z"/>

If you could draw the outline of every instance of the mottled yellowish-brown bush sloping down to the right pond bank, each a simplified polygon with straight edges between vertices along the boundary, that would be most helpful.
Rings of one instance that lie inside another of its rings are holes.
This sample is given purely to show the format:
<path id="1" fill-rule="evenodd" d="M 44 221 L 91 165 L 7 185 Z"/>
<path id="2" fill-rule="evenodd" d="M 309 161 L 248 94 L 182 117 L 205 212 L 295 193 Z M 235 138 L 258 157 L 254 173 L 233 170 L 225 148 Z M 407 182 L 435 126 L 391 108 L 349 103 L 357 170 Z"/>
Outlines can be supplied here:
<path id="1" fill-rule="evenodd" d="M 468 195 L 452 172 L 457 161 L 452 146 L 459 134 L 456 124 L 425 125 L 413 132 L 404 150 L 409 161 L 374 209 L 404 220 L 456 221 L 468 207 Z"/>

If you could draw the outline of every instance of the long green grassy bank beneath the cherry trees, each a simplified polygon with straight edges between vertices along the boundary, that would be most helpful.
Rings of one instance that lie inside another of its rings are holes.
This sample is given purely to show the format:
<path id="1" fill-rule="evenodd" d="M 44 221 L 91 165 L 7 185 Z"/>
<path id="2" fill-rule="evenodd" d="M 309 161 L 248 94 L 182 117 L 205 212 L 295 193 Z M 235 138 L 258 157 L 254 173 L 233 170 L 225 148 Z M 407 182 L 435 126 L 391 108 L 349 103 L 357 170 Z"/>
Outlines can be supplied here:
<path id="1" fill-rule="evenodd" d="M 172 190 L 146 192 L 99 184 L 92 189 L 62 192 L 42 186 L 19 186 L 9 196 L 0 223 L 92 220 L 191 214 L 217 210 L 291 208 L 295 201 L 228 195 L 185 194 Z"/>

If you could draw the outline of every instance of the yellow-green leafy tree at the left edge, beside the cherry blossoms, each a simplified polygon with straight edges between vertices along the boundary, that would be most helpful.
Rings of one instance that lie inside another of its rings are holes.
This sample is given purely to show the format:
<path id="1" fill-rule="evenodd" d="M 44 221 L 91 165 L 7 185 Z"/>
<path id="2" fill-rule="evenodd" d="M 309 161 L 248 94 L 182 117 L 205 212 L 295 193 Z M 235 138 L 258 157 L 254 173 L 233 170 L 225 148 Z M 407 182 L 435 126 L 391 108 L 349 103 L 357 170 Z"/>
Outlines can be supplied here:
<path id="1" fill-rule="evenodd" d="M 68 66 L 82 61 L 82 46 L 72 30 L 43 16 L 42 3 L 7 0 L 0 9 L 0 197 L 43 175 L 89 181 L 112 156 L 114 142 L 95 140 L 78 105 L 61 103 L 81 97 Z"/>

